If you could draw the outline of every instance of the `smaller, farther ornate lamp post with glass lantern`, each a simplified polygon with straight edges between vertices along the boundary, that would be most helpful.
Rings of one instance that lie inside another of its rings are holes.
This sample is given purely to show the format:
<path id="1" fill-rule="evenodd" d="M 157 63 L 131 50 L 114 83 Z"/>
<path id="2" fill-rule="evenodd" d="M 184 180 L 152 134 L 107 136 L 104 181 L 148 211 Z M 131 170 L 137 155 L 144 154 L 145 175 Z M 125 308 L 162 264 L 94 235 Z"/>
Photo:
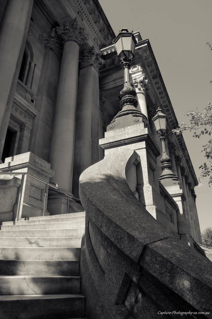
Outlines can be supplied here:
<path id="1" fill-rule="evenodd" d="M 172 170 L 171 170 L 171 160 L 170 157 L 167 155 L 166 152 L 166 146 L 165 146 L 165 135 L 166 135 L 166 115 L 162 113 L 161 108 L 158 108 L 156 110 L 157 114 L 153 117 L 153 121 L 155 124 L 155 129 L 158 135 L 160 136 L 160 141 L 161 141 L 161 148 L 162 148 L 162 158 L 161 158 L 161 169 L 162 169 L 162 174 L 159 177 L 159 181 L 163 181 L 167 186 L 170 180 L 172 181 L 179 181 L 178 176 L 176 176 Z"/>

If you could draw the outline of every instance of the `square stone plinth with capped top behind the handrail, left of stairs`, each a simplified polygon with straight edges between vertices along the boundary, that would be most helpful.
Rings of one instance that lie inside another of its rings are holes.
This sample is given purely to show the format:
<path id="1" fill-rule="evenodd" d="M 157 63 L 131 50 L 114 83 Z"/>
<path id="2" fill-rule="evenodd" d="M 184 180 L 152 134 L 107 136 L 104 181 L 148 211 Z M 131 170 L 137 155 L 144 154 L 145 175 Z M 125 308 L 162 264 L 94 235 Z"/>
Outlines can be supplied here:
<path id="1" fill-rule="evenodd" d="M 3 172 L 26 172 L 45 182 L 49 182 L 49 178 L 54 175 L 50 164 L 31 152 L 6 158 L 5 163 L 0 165 L 0 170 Z M 21 179 L 22 175 L 17 177 Z M 24 176 L 20 206 L 21 217 L 43 215 L 45 186 L 43 182 L 37 181 L 33 177 Z"/>

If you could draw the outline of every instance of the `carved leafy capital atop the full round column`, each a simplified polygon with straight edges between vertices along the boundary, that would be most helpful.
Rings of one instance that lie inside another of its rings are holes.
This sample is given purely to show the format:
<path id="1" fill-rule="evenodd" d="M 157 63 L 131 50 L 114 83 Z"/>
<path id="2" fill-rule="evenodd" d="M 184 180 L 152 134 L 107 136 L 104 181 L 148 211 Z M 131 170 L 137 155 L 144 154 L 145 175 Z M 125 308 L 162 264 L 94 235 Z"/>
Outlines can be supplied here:
<path id="1" fill-rule="evenodd" d="M 79 45 L 87 41 L 85 28 L 80 26 L 79 20 L 75 18 L 72 22 L 64 22 L 63 27 L 57 27 L 56 31 L 61 36 L 63 44 L 66 41 L 75 41 Z"/>

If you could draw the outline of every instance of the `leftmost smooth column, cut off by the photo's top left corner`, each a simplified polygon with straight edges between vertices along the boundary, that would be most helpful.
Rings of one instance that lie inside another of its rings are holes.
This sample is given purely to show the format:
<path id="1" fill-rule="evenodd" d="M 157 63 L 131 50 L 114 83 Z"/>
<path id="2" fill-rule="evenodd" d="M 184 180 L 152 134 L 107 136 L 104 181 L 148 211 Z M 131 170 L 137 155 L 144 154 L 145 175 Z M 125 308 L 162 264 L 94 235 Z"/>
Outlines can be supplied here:
<path id="1" fill-rule="evenodd" d="M 33 0 L 8 0 L 0 25 L 0 159 L 32 13 Z"/>

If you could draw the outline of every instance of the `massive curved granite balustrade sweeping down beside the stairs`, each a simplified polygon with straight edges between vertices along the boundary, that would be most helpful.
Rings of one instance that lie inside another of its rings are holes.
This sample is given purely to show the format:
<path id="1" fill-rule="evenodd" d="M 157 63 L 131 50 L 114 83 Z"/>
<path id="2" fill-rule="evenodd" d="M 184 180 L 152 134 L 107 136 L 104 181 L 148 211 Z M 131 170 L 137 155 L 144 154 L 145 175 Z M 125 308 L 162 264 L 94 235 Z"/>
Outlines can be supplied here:
<path id="1" fill-rule="evenodd" d="M 132 157 L 139 160 L 136 151 L 112 148 L 80 176 L 87 317 L 154 319 L 159 311 L 209 312 L 212 263 L 177 234 L 167 233 L 136 199 L 125 177 Z"/>

